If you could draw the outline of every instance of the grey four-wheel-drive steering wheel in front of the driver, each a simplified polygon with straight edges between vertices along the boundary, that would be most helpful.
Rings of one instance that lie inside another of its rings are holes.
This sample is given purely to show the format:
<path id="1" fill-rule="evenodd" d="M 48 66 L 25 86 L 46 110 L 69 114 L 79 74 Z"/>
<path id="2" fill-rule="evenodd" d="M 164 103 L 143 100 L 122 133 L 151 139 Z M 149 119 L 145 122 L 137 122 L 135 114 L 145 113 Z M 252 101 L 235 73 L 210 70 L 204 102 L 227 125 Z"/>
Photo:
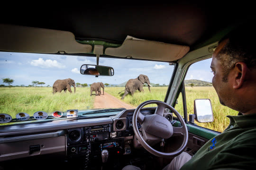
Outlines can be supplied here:
<path id="1" fill-rule="evenodd" d="M 157 104 L 157 108 L 155 113 L 152 115 L 144 116 L 140 110 L 147 104 Z M 182 124 L 182 127 L 173 127 L 171 122 L 164 117 L 165 109 L 170 109 L 173 113 L 178 117 L 179 121 Z M 141 125 L 140 129 L 138 128 L 138 124 Z M 157 101 L 157 100 L 149 100 L 138 105 L 133 114 L 132 119 L 133 130 L 135 133 L 135 137 L 139 143 L 151 154 L 164 157 L 164 158 L 172 158 L 176 155 L 179 155 L 185 148 L 188 142 L 188 130 L 183 120 L 182 116 L 175 110 L 171 105 Z M 175 151 L 171 153 L 164 153 L 155 150 L 148 143 L 152 141 L 161 141 L 162 139 L 167 139 L 171 136 L 183 136 L 182 145 Z M 136 140 L 136 139 L 135 139 Z M 147 142 L 146 142 L 147 141 Z"/>

